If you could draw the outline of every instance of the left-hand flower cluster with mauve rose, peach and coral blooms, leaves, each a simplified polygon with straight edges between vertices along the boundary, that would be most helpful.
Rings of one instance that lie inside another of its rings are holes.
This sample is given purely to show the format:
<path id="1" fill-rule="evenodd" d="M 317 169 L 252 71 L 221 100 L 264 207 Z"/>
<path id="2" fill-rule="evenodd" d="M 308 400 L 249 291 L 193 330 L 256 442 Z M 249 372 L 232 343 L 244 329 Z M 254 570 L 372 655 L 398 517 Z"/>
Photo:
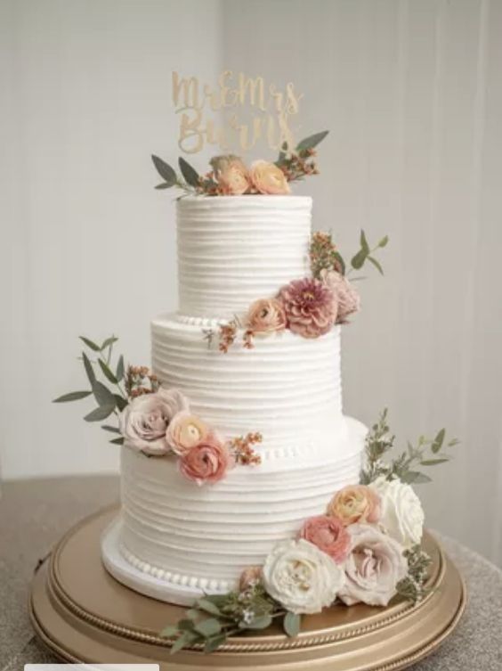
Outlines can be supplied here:
<path id="1" fill-rule="evenodd" d="M 162 387 L 149 368 L 126 367 L 122 355 L 112 365 L 113 347 L 118 340 L 115 336 L 101 345 L 83 336 L 80 340 L 90 350 L 89 355 L 82 352 L 82 361 L 91 389 L 65 394 L 54 403 L 93 396 L 97 407 L 84 419 L 104 421 L 113 415 L 116 426 L 101 425 L 101 429 L 117 434 L 111 443 L 126 444 L 148 457 L 175 457 L 180 473 L 199 486 L 218 482 L 237 464 L 261 463 L 254 448 L 262 442 L 261 434 L 223 438 L 190 413 L 189 400 L 181 391 Z"/>

